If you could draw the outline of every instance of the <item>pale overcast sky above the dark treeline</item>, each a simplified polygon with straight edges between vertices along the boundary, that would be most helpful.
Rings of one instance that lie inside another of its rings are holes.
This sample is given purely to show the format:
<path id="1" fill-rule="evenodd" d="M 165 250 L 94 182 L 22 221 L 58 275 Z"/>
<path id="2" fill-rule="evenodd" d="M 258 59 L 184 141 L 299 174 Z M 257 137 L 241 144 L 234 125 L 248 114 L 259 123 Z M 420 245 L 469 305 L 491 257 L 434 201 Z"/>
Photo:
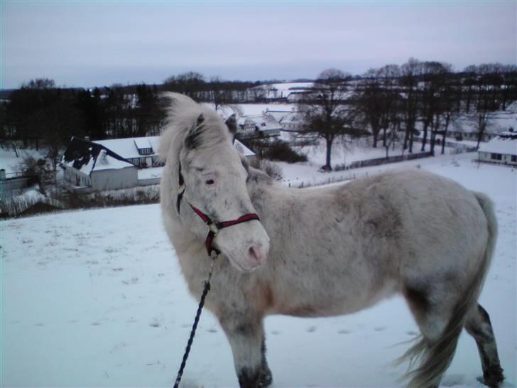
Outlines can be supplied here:
<path id="1" fill-rule="evenodd" d="M 513 1 L 0 1 L 1 87 L 361 74 L 408 58 L 516 64 Z"/>

